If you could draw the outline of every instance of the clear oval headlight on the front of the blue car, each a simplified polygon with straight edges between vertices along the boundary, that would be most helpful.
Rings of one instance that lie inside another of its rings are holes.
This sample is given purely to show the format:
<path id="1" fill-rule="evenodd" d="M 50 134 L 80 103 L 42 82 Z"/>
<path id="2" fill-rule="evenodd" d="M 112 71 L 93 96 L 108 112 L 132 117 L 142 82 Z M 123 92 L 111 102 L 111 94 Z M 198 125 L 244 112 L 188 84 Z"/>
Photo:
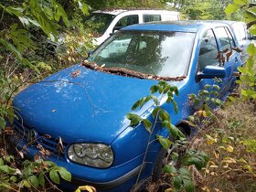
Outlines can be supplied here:
<path id="1" fill-rule="evenodd" d="M 112 165 L 112 148 L 106 144 L 71 144 L 69 159 L 82 165 L 106 168 Z"/>

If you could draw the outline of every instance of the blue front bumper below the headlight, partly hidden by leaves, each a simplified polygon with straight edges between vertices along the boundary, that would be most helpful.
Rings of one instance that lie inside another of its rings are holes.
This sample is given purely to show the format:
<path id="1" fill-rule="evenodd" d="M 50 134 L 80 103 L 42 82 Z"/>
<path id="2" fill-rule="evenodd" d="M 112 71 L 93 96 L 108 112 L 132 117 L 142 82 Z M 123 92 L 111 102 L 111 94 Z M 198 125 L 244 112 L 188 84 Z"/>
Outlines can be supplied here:
<path id="1" fill-rule="evenodd" d="M 36 144 L 27 145 L 27 140 L 24 136 L 14 142 L 20 150 L 23 146 L 27 146 L 26 152 L 29 158 L 33 158 L 35 155 L 39 154 Z M 111 166 L 104 169 L 73 163 L 69 161 L 66 151 L 64 152 L 64 155 L 53 154 L 46 157 L 45 160 L 52 161 L 59 166 L 67 168 L 72 176 L 69 185 L 73 187 L 90 185 L 96 187 L 97 190 L 120 191 L 120 188 L 122 188 L 122 191 L 130 191 L 134 185 L 136 177 L 141 171 L 143 157 L 144 155 L 136 156 L 122 165 Z"/>

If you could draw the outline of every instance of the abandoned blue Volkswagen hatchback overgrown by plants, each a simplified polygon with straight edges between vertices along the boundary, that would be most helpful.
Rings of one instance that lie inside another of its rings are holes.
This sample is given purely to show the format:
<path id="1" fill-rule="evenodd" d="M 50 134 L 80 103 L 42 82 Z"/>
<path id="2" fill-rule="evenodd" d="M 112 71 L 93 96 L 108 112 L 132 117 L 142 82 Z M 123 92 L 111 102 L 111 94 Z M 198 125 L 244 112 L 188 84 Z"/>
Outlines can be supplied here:
<path id="1" fill-rule="evenodd" d="M 224 101 L 241 65 L 237 46 L 229 25 L 218 22 L 124 27 L 87 60 L 16 95 L 14 125 L 23 135 L 18 146 L 29 143 L 27 155 L 33 157 L 37 144 L 42 145 L 51 153 L 49 160 L 69 170 L 72 186 L 129 191 L 141 169 L 139 180 L 155 174 L 162 148 L 158 141 L 151 142 L 142 165 L 149 133 L 142 123 L 130 126 L 126 118 L 134 102 L 165 80 L 179 91 L 178 112 L 165 100 L 161 107 L 170 113 L 172 123 L 189 129 L 183 123 L 193 112 L 187 95 L 221 78 L 219 99 Z M 148 102 L 135 113 L 152 121 L 154 108 Z M 161 126 L 155 134 L 168 137 Z"/>

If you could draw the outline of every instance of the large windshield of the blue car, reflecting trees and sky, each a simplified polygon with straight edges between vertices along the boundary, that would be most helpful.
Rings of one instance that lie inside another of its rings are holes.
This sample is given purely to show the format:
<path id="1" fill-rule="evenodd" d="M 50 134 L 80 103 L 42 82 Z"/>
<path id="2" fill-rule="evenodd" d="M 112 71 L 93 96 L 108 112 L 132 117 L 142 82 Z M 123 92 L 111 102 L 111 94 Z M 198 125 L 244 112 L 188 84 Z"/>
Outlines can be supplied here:
<path id="1" fill-rule="evenodd" d="M 161 77 L 182 77 L 194 42 L 194 33 L 121 31 L 88 59 L 104 68 L 124 68 Z"/>

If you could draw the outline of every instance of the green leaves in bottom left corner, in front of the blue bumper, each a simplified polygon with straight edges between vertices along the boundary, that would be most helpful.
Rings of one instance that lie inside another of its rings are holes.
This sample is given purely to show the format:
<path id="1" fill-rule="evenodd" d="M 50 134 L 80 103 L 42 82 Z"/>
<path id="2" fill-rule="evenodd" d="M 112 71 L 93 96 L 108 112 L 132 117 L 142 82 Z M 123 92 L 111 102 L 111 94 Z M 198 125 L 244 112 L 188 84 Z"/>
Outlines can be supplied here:
<path id="1" fill-rule="evenodd" d="M 20 190 L 21 188 L 45 188 L 45 178 L 59 184 L 60 177 L 66 181 L 71 175 L 66 168 L 55 165 L 53 162 L 37 159 L 33 162 L 24 161 L 21 168 L 16 166 L 13 155 L 0 158 L 0 189 Z"/>

